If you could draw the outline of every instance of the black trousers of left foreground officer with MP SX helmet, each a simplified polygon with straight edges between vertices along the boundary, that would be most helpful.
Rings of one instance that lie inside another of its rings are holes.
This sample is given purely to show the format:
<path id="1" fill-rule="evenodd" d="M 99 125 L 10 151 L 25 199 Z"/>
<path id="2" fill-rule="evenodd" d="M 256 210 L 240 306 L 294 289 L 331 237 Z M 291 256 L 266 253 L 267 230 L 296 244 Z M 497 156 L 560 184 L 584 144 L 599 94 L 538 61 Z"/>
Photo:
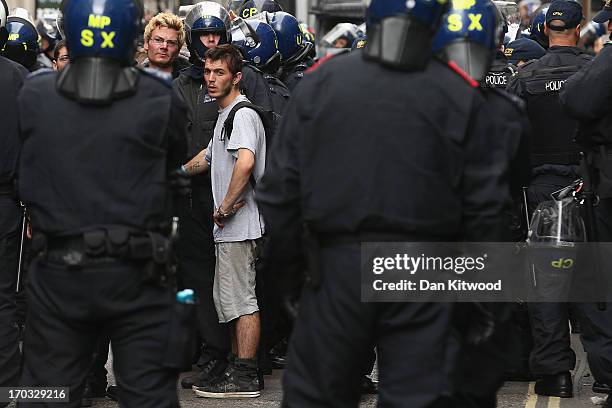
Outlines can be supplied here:
<path id="1" fill-rule="evenodd" d="M 183 361 L 170 340 L 185 337 L 188 316 L 181 314 L 184 305 L 175 302 L 172 288 L 143 275 L 142 263 L 128 261 L 75 269 L 35 260 L 27 287 L 22 385 L 69 387 L 66 406 L 79 407 L 98 340 L 108 335 L 121 406 L 178 407 Z"/>

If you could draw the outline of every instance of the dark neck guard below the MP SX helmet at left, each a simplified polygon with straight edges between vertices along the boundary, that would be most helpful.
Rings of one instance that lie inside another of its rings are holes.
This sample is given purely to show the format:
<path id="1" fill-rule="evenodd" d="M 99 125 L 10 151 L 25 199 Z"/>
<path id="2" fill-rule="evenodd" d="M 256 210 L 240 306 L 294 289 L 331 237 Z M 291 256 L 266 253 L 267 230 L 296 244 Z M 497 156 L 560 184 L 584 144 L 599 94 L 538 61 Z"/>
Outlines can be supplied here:
<path id="1" fill-rule="evenodd" d="M 57 89 L 84 105 L 108 105 L 136 92 L 136 68 L 106 58 L 87 57 L 71 62 L 58 76 Z"/>

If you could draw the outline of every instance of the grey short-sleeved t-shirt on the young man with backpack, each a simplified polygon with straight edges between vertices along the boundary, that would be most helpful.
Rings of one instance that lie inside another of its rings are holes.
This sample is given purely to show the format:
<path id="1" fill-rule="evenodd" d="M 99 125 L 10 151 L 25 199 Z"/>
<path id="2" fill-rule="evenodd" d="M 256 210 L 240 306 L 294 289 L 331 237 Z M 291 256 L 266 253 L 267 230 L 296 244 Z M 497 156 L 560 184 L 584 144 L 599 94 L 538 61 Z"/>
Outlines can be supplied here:
<path id="1" fill-rule="evenodd" d="M 206 160 L 211 164 L 211 179 L 215 208 L 218 208 L 230 185 L 234 165 L 238 159 L 238 149 L 248 149 L 255 154 L 253 176 L 259 182 L 266 167 L 266 133 L 257 112 L 242 108 L 234 117 L 234 128 L 229 140 L 222 134 L 223 124 L 232 108 L 238 103 L 248 101 L 240 95 L 225 109 L 219 111 L 219 119 L 215 125 L 213 138 L 206 149 Z M 236 215 L 225 220 L 224 228 L 215 225 L 213 236 L 215 242 L 239 242 L 248 239 L 258 239 L 264 233 L 263 218 L 257 208 L 253 196 L 251 182 L 247 184 L 242 198 L 246 204 Z"/>

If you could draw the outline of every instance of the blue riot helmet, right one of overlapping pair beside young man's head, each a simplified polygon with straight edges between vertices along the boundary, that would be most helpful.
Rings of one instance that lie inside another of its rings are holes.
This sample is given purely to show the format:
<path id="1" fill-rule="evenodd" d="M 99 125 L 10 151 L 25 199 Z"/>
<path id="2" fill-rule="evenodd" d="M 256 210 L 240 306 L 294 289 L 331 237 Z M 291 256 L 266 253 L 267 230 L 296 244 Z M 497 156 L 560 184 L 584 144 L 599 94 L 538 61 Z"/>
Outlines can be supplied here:
<path id="1" fill-rule="evenodd" d="M 302 27 L 295 17 L 284 11 L 265 13 L 265 15 L 268 24 L 276 32 L 278 50 L 283 57 L 284 66 L 295 64 L 310 54 L 314 44 L 305 41 Z"/>

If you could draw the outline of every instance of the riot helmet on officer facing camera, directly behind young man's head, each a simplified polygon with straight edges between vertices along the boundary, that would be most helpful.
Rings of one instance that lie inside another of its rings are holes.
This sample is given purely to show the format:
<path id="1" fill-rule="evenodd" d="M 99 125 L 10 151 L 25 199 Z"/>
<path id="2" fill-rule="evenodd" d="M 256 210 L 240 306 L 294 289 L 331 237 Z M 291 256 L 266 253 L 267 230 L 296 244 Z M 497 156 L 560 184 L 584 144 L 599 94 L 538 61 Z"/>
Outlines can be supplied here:
<path id="1" fill-rule="evenodd" d="M 230 44 L 230 16 L 220 4 L 212 1 L 197 3 L 185 17 L 185 31 L 187 33 L 187 47 L 192 56 L 204 61 L 204 54 L 208 48 L 200 40 L 200 35 L 219 34 L 219 44 Z"/>

